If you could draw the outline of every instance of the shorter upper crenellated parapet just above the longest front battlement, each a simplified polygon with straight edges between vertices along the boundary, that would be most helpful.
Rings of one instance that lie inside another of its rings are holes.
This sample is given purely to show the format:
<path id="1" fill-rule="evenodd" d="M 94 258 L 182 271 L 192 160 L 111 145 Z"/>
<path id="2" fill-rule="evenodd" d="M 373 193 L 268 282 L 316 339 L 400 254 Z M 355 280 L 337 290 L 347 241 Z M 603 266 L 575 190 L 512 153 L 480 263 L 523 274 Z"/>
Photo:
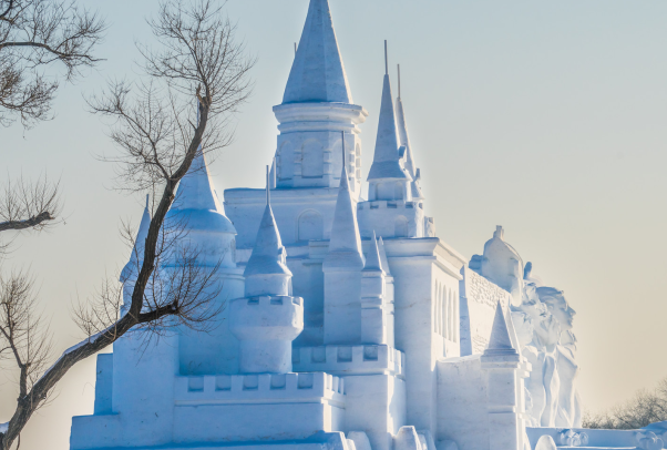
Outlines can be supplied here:
<path id="1" fill-rule="evenodd" d="M 291 364 L 299 372 L 406 377 L 406 355 L 387 345 L 297 347 Z"/>

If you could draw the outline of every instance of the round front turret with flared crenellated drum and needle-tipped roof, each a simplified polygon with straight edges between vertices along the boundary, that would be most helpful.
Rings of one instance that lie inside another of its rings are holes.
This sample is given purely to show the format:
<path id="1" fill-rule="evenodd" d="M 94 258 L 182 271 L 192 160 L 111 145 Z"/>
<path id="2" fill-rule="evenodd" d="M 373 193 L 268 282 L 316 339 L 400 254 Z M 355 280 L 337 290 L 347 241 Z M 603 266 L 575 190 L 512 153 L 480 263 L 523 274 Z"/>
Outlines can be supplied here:
<path id="1" fill-rule="evenodd" d="M 246 296 L 232 301 L 229 328 L 239 340 L 242 374 L 291 371 L 291 341 L 304 330 L 304 300 L 291 297 L 291 272 L 270 205 L 266 208 L 244 276 Z"/>

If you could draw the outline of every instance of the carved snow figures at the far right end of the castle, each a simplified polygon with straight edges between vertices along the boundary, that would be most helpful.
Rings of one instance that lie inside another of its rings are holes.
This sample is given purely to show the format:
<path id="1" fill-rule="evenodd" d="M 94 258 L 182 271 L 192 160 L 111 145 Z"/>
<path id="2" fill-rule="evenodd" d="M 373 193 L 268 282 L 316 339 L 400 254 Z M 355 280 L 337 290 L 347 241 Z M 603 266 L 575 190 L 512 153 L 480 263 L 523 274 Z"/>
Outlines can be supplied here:
<path id="1" fill-rule="evenodd" d="M 504 241 L 501 226 L 469 267 L 509 294 L 521 354 L 531 365 L 525 380 L 526 422 L 532 427 L 579 427 L 579 369 L 572 330 L 576 313 L 563 292 L 544 286 L 532 263 L 523 266 L 516 249 Z"/>

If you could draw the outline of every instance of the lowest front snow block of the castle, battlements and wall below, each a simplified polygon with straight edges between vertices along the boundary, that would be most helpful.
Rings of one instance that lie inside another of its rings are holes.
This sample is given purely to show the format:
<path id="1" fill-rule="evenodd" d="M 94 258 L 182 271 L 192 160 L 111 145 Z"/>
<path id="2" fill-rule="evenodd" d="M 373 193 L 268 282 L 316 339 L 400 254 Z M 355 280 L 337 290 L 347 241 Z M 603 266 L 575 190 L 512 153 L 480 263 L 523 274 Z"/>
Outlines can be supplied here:
<path id="1" fill-rule="evenodd" d="M 174 442 L 306 439 L 342 429 L 343 380 L 328 374 L 176 377 Z"/>

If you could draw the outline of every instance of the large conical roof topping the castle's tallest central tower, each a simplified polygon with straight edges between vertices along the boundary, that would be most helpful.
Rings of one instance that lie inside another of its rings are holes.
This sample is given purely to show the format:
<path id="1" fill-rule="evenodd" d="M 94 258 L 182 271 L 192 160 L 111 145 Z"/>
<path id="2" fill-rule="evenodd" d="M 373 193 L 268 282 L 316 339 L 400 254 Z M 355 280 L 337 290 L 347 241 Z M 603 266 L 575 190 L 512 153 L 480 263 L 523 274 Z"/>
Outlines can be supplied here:
<path id="1" fill-rule="evenodd" d="M 310 0 L 283 103 L 352 103 L 328 0 Z"/>

